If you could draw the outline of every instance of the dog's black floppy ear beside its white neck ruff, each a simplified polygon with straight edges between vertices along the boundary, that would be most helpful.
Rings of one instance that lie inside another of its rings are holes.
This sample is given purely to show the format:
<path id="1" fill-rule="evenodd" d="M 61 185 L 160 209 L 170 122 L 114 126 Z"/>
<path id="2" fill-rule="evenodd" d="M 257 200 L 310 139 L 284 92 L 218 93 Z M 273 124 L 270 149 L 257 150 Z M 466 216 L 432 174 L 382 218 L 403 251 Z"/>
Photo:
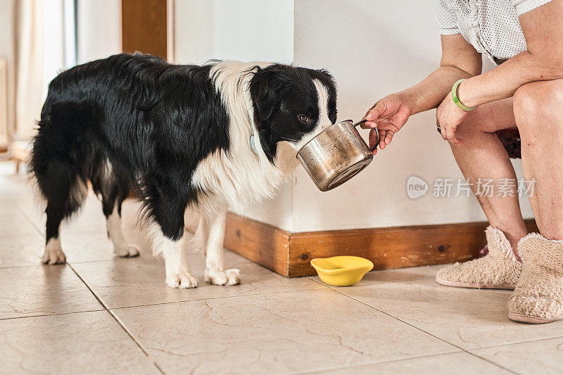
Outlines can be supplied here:
<path id="1" fill-rule="evenodd" d="M 288 86 L 288 80 L 284 70 L 277 65 L 264 69 L 256 67 L 254 77 L 250 82 L 250 91 L 254 113 L 258 116 L 255 119 L 258 126 L 262 121 L 270 119 L 274 110 L 279 106 L 281 95 Z"/>

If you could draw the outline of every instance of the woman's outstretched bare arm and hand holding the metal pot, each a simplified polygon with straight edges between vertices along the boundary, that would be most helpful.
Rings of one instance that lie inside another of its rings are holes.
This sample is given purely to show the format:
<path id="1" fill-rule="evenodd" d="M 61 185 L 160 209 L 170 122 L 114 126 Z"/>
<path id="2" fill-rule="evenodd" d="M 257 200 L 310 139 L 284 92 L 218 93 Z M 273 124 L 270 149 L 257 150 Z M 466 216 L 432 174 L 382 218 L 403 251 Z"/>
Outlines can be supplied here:
<path id="1" fill-rule="evenodd" d="M 379 148 L 385 148 L 410 115 L 436 108 L 455 81 L 481 73 L 481 54 L 461 34 L 442 35 L 441 42 L 440 68 L 415 86 L 382 98 L 367 111 L 364 118 L 368 121 L 362 127 L 372 128 L 370 148 L 377 139 L 374 128 L 379 129 Z"/>

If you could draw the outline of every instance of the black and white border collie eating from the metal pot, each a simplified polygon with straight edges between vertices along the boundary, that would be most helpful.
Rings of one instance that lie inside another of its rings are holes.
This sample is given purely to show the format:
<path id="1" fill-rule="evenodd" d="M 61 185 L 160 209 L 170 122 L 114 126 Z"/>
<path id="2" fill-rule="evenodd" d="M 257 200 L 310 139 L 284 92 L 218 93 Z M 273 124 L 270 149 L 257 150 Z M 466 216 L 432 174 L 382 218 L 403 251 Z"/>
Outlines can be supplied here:
<path id="1" fill-rule="evenodd" d="M 168 286 L 198 286 L 183 251 L 186 209 L 200 218 L 194 239 L 205 252 L 205 281 L 239 284 L 222 253 L 227 208 L 242 213 L 273 196 L 298 148 L 335 122 L 336 87 L 324 70 L 172 65 L 137 53 L 66 70 L 49 84 L 30 160 L 46 199 L 43 262 L 65 262 L 61 221 L 84 203 L 90 182 L 116 255 L 139 255 L 120 219 L 134 190 Z"/>

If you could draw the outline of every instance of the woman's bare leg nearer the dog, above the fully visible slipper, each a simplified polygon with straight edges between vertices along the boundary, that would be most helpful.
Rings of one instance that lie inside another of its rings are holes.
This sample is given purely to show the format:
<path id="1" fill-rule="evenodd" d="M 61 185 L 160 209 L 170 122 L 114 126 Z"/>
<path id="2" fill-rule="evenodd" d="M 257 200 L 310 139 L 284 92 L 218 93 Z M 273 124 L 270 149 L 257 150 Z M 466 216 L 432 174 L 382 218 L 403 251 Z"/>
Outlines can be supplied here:
<path id="1" fill-rule="evenodd" d="M 512 98 L 483 104 L 469 113 L 458 127 L 456 134 L 463 144 L 451 145 L 451 148 L 457 165 L 472 184 L 488 222 L 505 233 L 517 255 L 516 245 L 528 231 L 520 211 L 517 184 L 514 186 L 513 196 L 497 196 L 499 180 L 512 179 L 516 182 L 517 177 L 507 151 L 495 134 L 499 130 L 515 127 Z M 479 191 L 476 191 L 479 179 L 494 179 L 495 189 L 492 194 L 479 195 Z"/>

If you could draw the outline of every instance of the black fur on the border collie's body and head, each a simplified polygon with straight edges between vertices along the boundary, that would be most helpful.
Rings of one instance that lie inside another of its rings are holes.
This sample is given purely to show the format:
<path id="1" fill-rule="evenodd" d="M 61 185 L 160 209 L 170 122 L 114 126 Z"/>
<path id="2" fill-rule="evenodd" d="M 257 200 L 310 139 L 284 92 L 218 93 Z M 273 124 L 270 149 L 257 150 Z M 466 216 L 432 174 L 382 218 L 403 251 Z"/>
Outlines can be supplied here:
<path id="1" fill-rule="evenodd" d="M 30 163 L 47 201 L 47 242 L 80 208 L 85 196 L 78 192 L 88 181 L 106 217 L 137 190 L 163 234 L 182 236 L 186 206 L 205 194 L 191 183 L 194 170 L 210 153 L 230 152 L 229 110 L 210 77 L 212 66 L 122 53 L 51 82 Z M 274 64 L 248 74 L 255 126 L 270 162 L 279 141 L 297 141 L 317 123 L 312 79 L 328 88 L 336 121 L 336 89 L 327 72 Z"/>

